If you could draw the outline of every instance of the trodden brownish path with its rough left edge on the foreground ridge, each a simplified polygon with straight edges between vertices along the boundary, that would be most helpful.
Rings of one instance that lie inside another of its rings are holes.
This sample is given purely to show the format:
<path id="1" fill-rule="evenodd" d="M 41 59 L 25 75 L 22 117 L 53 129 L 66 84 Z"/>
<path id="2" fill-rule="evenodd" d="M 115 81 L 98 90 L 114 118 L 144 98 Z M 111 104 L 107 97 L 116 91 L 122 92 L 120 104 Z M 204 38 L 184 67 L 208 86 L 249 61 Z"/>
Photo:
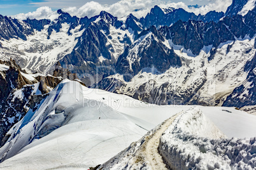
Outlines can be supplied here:
<path id="1" fill-rule="evenodd" d="M 180 113 L 173 115 L 149 131 L 139 141 L 108 160 L 99 169 L 167 169 L 157 148 L 159 138 Z"/>

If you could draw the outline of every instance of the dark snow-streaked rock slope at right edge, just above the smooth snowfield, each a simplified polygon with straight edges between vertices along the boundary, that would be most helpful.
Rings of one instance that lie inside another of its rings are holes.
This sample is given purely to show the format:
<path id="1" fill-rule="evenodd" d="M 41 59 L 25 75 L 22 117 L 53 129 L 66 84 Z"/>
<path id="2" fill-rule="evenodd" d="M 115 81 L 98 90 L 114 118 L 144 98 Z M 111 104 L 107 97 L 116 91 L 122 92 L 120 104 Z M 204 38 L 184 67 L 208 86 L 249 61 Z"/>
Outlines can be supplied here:
<path id="1" fill-rule="evenodd" d="M 223 106 L 241 108 L 246 105 L 256 105 L 256 53 L 252 60 L 246 63 L 245 71 L 248 72 L 246 81 L 227 96 Z"/>

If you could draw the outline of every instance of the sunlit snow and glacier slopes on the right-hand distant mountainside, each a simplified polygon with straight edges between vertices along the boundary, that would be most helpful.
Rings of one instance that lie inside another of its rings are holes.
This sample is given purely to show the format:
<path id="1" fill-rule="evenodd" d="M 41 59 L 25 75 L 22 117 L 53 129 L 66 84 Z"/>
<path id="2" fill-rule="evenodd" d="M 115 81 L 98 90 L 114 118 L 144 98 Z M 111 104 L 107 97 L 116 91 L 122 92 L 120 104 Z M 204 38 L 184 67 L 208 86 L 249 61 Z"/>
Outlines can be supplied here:
<path id="1" fill-rule="evenodd" d="M 152 33 L 140 37 L 132 44 L 127 56 L 130 67 L 135 58 L 138 58 L 136 55 L 139 48 L 146 49 L 149 46 L 152 38 L 150 35 Z M 153 88 L 157 88 L 159 93 L 174 91 L 178 95 L 187 95 L 189 88 L 194 89 L 194 84 L 197 86 L 201 84 L 202 87 L 194 95 L 196 99 L 190 100 L 221 106 L 234 88 L 246 80 L 247 73 L 244 66 L 246 62 L 252 60 L 256 51 L 254 48 L 255 37 L 248 36 L 244 39 L 238 38 L 236 41 L 222 42 L 212 60 L 208 59 L 211 55 L 210 50 L 213 49 L 212 45 L 204 46 L 196 56 L 189 49 L 173 44 L 170 39 L 165 39 L 162 43 L 169 49 L 173 48 L 176 55 L 180 56 L 182 67 L 170 67 L 166 72 L 157 72 L 157 74 L 155 74 L 155 69 L 143 69 L 129 82 L 124 81 L 123 75 L 110 75 L 110 79 L 115 78 L 124 82 L 125 86 L 118 89 L 120 93 L 134 96 L 138 88 L 146 83 L 145 92 L 147 93 L 150 93 Z M 166 82 L 169 82 L 169 86 L 160 89 Z M 219 99 L 220 103 L 216 103 Z"/>

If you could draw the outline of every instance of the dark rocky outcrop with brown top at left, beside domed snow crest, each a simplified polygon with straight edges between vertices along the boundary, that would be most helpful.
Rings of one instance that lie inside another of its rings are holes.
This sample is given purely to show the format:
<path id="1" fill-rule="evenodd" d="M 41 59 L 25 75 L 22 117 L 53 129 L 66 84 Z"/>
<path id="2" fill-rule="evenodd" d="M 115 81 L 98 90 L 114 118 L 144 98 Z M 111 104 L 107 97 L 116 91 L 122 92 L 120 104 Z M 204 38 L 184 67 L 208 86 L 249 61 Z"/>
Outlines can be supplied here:
<path id="1" fill-rule="evenodd" d="M 25 72 L 15 63 L 3 62 L 0 64 L 10 67 L 0 71 L 0 143 L 4 145 L 8 140 L 5 134 L 27 113 L 29 108 L 36 109 L 36 105 L 45 98 L 50 89 L 55 88 L 62 77 L 75 80 L 77 76 L 68 70 L 56 67 L 56 77 L 37 75 L 34 80 L 25 77 Z M 34 96 L 35 95 L 35 96 Z"/>

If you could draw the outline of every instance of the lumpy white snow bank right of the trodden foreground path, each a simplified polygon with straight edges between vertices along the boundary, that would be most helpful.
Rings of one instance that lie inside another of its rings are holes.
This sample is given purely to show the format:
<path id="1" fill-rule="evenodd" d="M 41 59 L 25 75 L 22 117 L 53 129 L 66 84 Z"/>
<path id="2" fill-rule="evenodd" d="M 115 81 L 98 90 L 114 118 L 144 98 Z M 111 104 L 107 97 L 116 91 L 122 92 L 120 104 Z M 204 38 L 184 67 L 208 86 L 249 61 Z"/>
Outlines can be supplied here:
<path id="1" fill-rule="evenodd" d="M 193 107 L 165 131 L 159 152 L 172 169 L 253 169 L 255 141 L 225 138 L 199 108 Z"/>

